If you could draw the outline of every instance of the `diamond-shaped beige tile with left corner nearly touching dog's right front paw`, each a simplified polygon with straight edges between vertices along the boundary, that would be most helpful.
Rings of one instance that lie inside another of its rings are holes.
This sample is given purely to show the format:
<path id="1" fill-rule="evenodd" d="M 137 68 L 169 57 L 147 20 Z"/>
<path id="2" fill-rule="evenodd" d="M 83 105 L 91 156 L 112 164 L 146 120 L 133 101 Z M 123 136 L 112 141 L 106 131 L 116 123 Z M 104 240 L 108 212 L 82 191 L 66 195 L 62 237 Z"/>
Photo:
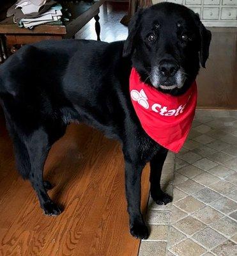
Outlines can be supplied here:
<path id="1" fill-rule="evenodd" d="M 178 202 L 174 202 L 174 205 L 179 207 L 181 210 L 189 213 L 195 212 L 204 207 L 204 204 L 202 202 L 200 202 L 199 200 L 196 200 L 192 196 L 188 196 L 184 199 L 181 199 Z"/>

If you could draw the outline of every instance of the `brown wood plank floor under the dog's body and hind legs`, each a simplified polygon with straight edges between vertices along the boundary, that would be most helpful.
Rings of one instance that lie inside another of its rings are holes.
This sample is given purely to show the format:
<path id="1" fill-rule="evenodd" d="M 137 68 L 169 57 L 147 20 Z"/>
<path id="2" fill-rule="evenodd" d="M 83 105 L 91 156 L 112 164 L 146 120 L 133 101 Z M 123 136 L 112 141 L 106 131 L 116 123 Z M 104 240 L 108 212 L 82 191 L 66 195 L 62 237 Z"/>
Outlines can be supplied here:
<path id="1" fill-rule="evenodd" d="M 0 114 L 1 115 L 1 114 Z M 70 125 L 50 151 L 45 178 L 65 210 L 45 216 L 29 182 L 15 170 L 12 145 L 0 117 L 0 255 L 133 256 L 140 241 L 128 230 L 123 156 L 116 141 L 85 125 Z M 148 196 L 142 179 L 142 209 Z"/>

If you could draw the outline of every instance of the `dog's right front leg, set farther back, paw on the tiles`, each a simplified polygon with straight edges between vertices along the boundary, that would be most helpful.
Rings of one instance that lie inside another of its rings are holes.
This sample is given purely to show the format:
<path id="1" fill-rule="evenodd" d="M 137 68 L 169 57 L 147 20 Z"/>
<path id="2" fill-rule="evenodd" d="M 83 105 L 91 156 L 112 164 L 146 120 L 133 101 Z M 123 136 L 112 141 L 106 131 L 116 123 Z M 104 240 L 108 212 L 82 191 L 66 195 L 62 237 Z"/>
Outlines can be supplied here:
<path id="1" fill-rule="evenodd" d="M 151 173 L 149 181 L 151 182 L 151 198 L 158 204 L 168 204 L 172 201 L 172 197 L 167 195 L 160 188 L 160 177 L 162 175 L 162 168 L 167 156 L 168 150 L 157 153 L 150 161 Z"/>

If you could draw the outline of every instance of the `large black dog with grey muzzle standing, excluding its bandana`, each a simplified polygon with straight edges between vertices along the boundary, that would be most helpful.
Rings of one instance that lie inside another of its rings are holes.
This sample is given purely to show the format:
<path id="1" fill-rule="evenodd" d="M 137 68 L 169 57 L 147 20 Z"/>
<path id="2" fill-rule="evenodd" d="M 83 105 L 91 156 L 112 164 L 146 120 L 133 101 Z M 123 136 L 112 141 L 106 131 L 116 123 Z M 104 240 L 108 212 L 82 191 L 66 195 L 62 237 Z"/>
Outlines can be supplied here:
<path id="1" fill-rule="evenodd" d="M 131 67 L 142 81 L 172 95 L 184 93 L 208 58 L 210 31 L 198 15 L 178 4 L 161 3 L 139 10 L 125 42 L 45 41 L 26 45 L 0 67 L 0 98 L 13 140 L 17 168 L 29 179 L 48 215 L 60 213 L 43 181 L 52 144 L 66 125 L 85 122 L 121 141 L 125 157 L 130 232 L 146 239 L 140 210 L 141 173 L 151 165 L 151 196 L 171 202 L 160 189 L 167 149 L 144 132 L 130 99 Z"/>

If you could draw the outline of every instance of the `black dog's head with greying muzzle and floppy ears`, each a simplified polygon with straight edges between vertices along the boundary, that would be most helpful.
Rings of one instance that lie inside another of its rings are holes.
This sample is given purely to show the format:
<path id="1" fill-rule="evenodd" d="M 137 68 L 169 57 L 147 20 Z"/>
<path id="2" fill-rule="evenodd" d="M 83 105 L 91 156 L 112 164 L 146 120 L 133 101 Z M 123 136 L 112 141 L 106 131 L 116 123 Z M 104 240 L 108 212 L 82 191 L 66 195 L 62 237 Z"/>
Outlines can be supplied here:
<path id="1" fill-rule="evenodd" d="M 160 3 L 135 13 L 123 56 L 132 56 L 142 81 L 162 92 L 187 90 L 209 55 L 211 32 L 185 6 Z"/>

